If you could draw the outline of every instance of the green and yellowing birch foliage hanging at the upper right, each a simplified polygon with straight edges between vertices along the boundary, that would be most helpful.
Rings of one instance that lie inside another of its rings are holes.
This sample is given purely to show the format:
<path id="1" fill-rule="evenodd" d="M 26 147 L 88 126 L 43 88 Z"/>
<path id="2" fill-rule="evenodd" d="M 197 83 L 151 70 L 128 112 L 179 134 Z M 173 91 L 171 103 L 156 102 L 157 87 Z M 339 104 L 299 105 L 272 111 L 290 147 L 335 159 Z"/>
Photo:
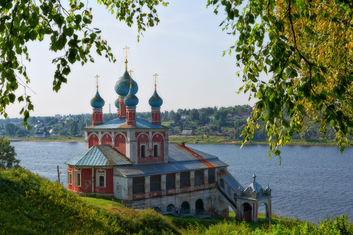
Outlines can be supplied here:
<path id="1" fill-rule="evenodd" d="M 245 4 L 247 4 L 245 6 Z M 270 151 L 315 120 L 323 135 L 327 125 L 336 143 L 349 147 L 353 127 L 353 3 L 346 0 L 208 1 L 223 7 L 223 30 L 239 36 L 228 50 L 237 53 L 244 86 L 257 98 L 243 144 L 258 131 L 268 133 Z M 225 51 L 226 52 L 226 51 Z M 224 52 L 224 53 L 225 53 Z M 240 76 L 240 73 L 238 73 Z M 268 81 L 267 79 L 270 78 Z M 271 155 L 270 155 L 271 157 Z"/>

